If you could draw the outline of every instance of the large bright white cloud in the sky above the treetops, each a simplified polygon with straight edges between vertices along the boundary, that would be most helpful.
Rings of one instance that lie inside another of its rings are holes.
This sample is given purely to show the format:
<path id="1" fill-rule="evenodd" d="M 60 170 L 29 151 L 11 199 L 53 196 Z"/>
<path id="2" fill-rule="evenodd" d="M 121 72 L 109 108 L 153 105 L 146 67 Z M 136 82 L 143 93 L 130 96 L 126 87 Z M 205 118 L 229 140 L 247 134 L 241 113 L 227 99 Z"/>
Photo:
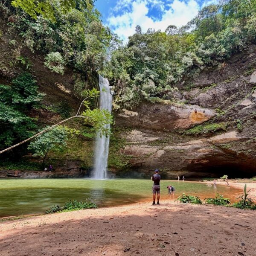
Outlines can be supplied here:
<path id="1" fill-rule="evenodd" d="M 148 17 L 150 6 L 158 6 L 161 10 L 161 18 Z M 121 1 L 116 6 L 121 8 Z M 127 9 L 121 15 L 112 14 L 108 19 L 108 26 L 125 42 L 128 36 L 133 35 L 135 27 L 140 25 L 143 32 L 148 28 L 165 31 L 169 25 L 183 26 L 197 15 L 200 6 L 195 0 L 173 0 L 166 5 L 157 0 L 122 0 L 122 6 Z"/>

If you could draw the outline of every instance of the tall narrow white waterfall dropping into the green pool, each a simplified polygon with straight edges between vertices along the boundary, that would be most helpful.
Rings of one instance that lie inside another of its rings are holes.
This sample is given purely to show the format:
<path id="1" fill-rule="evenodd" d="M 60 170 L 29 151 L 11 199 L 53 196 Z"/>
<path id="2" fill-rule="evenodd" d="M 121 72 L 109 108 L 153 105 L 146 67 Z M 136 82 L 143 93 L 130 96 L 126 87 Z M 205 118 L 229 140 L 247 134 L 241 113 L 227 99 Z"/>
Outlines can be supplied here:
<path id="1" fill-rule="evenodd" d="M 99 75 L 99 108 L 106 109 L 111 112 L 112 109 L 112 95 L 108 83 L 108 79 Z M 106 125 L 110 128 L 110 124 Z M 94 179 L 106 179 L 108 173 L 108 145 L 109 136 L 100 136 L 99 132 L 96 137 L 96 145 L 94 151 Z"/>

